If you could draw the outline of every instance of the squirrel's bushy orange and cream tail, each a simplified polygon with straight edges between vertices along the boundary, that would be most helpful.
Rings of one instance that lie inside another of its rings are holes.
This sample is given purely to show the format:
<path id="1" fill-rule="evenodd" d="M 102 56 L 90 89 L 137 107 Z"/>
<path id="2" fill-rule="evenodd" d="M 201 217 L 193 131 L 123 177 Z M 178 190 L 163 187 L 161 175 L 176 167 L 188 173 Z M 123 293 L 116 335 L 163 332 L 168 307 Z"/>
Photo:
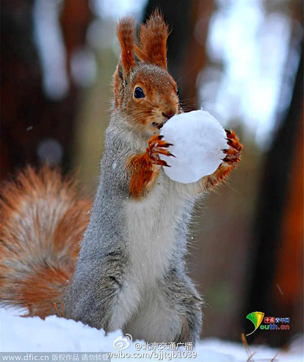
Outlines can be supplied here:
<path id="1" fill-rule="evenodd" d="M 45 318 L 61 306 L 91 201 L 57 169 L 27 167 L 1 188 L 0 300 Z"/>

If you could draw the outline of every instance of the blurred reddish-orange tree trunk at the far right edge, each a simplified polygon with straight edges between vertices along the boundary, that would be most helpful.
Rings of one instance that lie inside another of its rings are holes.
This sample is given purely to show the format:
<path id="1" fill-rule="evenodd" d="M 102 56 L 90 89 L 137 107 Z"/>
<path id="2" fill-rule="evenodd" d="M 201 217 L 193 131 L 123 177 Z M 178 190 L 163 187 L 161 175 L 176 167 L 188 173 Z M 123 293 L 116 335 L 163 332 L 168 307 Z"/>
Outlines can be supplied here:
<path id="1" fill-rule="evenodd" d="M 303 103 L 295 135 L 295 150 L 288 177 L 287 197 L 276 252 L 270 306 L 278 317 L 290 317 L 290 330 L 276 333 L 279 345 L 303 333 Z"/>

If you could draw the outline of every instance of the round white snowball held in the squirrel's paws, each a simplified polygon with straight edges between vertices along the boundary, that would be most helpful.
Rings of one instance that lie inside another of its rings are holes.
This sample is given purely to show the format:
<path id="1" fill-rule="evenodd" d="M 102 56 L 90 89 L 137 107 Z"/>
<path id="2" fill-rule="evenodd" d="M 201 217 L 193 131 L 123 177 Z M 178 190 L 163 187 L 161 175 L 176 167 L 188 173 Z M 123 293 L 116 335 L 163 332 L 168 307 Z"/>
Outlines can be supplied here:
<path id="1" fill-rule="evenodd" d="M 176 114 L 162 127 L 164 140 L 172 143 L 168 150 L 175 157 L 160 155 L 171 167 L 164 167 L 167 176 L 188 184 L 213 173 L 224 158 L 226 132 L 207 111 Z"/>

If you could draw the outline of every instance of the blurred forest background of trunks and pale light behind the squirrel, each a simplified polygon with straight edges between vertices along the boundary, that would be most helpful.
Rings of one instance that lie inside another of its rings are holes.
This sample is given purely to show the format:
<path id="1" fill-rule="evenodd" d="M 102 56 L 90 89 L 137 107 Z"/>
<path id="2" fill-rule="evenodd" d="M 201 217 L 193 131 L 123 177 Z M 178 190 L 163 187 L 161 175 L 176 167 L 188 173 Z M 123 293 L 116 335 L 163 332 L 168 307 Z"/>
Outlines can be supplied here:
<path id="1" fill-rule="evenodd" d="M 244 143 L 240 167 L 198 205 L 189 274 L 206 300 L 203 336 L 240 341 L 246 315 L 303 333 L 303 1 L 1 0 L 1 180 L 48 160 L 93 197 L 119 56 L 115 22 L 159 6 L 169 71 Z"/>

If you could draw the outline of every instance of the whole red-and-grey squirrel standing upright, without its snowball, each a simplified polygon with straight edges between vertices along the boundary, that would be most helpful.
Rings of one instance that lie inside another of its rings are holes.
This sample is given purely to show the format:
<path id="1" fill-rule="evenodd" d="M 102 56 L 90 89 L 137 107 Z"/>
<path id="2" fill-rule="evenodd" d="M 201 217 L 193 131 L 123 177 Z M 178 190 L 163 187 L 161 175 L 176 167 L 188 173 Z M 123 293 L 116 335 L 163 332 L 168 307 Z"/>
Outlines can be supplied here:
<path id="1" fill-rule="evenodd" d="M 56 313 L 147 342 L 195 342 L 203 300 L 186 274 L 195 201 L 237 166 L 242 144 L 226 130 L 223 161 L 190 184 L 171 180 L 160 136 L 182 112 L 167 71 L 168 26 L 156 10 L 139 28 L 119 20 L 121 56 L 96 198 L 75 178 L 27 167 L 1 189 L 1 301 L 28 316 Z M 202 135 L 203 136 L 203 135 Z"/>

